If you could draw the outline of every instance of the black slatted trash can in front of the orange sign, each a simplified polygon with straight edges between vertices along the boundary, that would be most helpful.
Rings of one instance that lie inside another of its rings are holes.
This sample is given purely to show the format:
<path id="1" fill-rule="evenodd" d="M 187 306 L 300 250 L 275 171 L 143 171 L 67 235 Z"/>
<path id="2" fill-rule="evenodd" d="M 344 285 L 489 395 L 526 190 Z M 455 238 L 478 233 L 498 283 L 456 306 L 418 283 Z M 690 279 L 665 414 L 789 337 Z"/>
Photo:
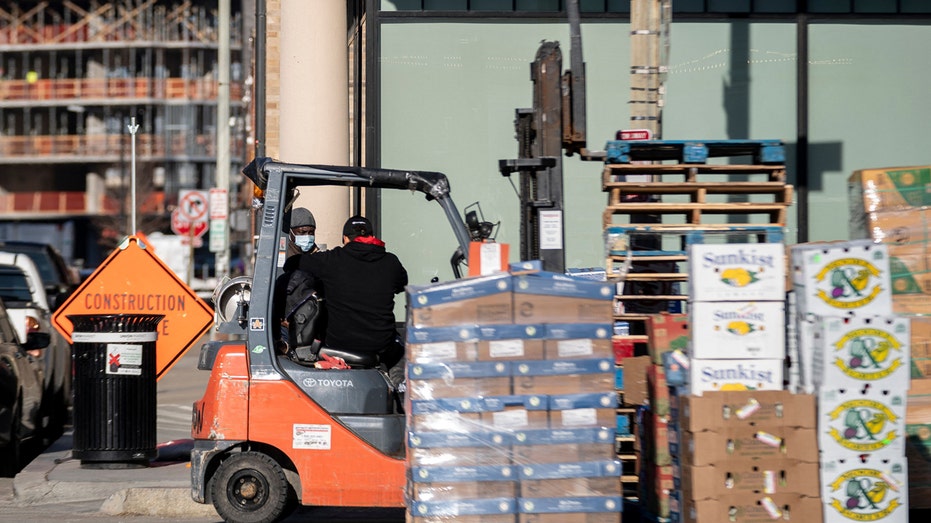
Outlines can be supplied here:
<path id="1" fill-rule="evenodd" d="M 75 314 L 73 452 L 86 468 L 148 466 L 156 448 L 161 314 Z"/>

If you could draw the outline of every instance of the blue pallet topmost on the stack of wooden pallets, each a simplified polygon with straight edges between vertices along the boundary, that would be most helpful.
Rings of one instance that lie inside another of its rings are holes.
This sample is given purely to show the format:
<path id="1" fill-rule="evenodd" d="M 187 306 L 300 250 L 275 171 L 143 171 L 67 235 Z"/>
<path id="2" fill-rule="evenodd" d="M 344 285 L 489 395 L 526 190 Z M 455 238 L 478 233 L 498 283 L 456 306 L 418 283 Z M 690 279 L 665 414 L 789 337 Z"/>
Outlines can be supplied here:
<path id="1" fill-rule="evenodd" d="M 786 150 L 781 140 L 609 140 L 605 163 L 676 160 L 706 163 L 708 158 L 752 156 L 757 164 L 783 164 Z"/>

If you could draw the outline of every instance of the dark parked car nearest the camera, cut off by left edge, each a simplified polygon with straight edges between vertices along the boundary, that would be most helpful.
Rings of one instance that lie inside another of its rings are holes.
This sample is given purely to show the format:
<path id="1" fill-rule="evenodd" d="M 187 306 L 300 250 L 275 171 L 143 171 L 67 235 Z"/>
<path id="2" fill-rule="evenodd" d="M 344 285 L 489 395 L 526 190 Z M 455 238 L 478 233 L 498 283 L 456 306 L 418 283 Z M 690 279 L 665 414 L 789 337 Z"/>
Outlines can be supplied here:
<path id="1" fill-rule="evenodd" d="M 0 300 L 0 476 L 12 477 L 39 444 L 43 372 L 40 358 L 48 333 L 30 332 L 19 343 L 6 306 Z"/>

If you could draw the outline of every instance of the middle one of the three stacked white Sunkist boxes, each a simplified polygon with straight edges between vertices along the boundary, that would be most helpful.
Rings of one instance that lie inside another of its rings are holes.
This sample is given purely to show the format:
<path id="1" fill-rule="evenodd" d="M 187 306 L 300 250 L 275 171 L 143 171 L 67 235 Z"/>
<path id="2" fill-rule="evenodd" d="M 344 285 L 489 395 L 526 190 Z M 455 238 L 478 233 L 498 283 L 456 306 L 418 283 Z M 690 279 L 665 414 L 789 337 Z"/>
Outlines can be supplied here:
<path id="1" fill-rule="evenodd" d="M 689 354 L 698 359 L 782 359 L 784 301 L 694 302 Z"/>

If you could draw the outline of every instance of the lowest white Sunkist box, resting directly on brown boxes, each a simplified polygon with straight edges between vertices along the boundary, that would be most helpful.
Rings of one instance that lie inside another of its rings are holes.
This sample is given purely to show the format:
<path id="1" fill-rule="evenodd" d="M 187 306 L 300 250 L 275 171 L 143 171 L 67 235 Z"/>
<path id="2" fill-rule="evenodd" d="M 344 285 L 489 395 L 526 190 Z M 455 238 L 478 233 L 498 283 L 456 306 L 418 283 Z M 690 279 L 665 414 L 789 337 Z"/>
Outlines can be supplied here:
<path id="1" fill-rule="evenodd" d="M 701 396 L 716 390 L 782 390 L 783 359 L 689 361 L 689 392 Z"/>

